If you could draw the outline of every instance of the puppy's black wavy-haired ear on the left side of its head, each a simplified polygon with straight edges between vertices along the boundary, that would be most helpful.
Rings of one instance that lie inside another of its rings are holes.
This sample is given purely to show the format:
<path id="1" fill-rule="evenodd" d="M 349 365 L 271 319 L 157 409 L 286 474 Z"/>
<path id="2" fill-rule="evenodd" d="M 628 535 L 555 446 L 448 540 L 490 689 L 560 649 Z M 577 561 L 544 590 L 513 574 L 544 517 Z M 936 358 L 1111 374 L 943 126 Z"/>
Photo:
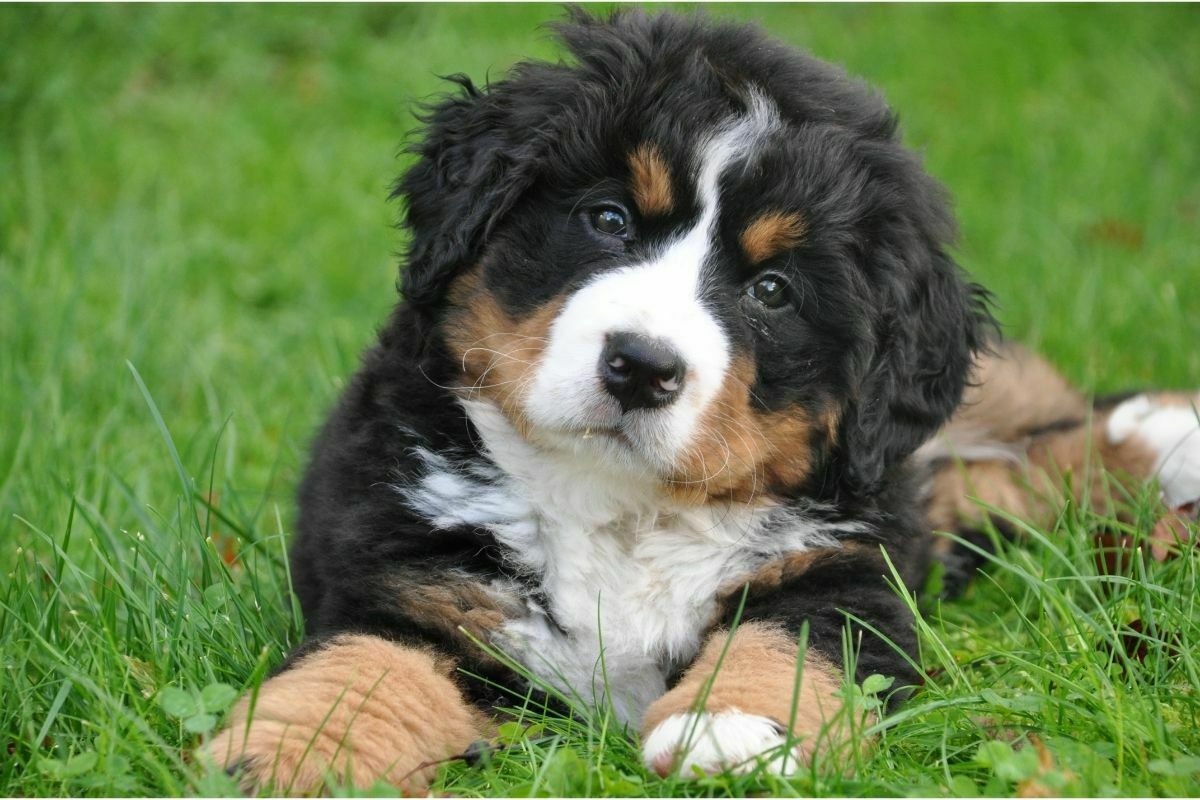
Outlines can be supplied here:
<path id="1" fill-rule="evenodd" d="M 409 233 L 400 290 L 409 303 L 438 302 L 450 282 L 482 254 L 488 233 L 533 181 L 535 140 L 515 131 L 504 92 L 478 89 L 466 76 L 460 91 L 420 116 L 416 162 L 396 184 Z"/>

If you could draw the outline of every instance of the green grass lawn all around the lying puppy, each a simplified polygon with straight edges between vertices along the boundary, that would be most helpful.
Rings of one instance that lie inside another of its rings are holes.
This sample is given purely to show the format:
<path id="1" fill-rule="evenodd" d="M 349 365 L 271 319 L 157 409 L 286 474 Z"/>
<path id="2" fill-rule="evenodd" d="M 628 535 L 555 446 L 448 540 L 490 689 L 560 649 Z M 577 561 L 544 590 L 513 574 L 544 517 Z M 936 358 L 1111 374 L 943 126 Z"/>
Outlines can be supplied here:
<path id="1" fill-rule="evenodd" d="M 1194 7 L 713 11 L 902 109 L 1010 335 L 1092 390 L 1200 384 Z M 552 54 L 557 13 L 0 7 L 0 794 L 235 790 L 193 730 L 300 637 L 293 487 L 392 301 L 408 106 Z M 1098 576 L 1105 524 L 1067 509 L 922 601 L 934 676 L 850 777 L 659 781 L 602 715 L 527 710 L 442 788 L 1200 794 L 1196 555 Z"/>

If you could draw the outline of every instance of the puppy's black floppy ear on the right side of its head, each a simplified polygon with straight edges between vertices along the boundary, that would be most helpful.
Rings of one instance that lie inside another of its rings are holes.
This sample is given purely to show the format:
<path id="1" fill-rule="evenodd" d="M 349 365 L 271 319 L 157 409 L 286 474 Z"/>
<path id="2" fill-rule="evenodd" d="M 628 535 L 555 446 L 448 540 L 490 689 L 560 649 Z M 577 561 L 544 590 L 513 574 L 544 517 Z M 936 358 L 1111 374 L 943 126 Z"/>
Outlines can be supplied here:
<path id="1" fill-rule="evenodd" d="M 946 252 L 954 224 L 941 187 L 916 160 L 893 166 L 906 191 L 866 257 L 877 287 L 874 347 L 841 429 L 846 475 L 868 493 L 949 420 L 995 331 L 989 294 Z"/>

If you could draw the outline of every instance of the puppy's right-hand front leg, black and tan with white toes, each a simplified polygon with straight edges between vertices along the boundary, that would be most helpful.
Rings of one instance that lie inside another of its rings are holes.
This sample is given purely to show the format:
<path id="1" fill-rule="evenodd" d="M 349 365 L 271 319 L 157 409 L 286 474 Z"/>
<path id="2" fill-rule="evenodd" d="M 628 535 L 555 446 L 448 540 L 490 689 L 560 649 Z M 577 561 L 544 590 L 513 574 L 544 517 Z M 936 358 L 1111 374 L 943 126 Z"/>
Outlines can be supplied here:
<path id="1" fill-rule="evenodd" d="M 912 619 L 883 582 L 886 572 L 877 554 L 851 547 L 782 559 L 751 578 L 740 625 L 732 633 L 712 632 L 680 681 L 647 710 L 646 765 L 684 777 L 725 769 L 788 774 L 822 754 L 844 765 L 846 742 L 865 724 L 840 692 L 845 614 L 916 650 Z M 740 588 L 730 594 L 726 624 L 740 599 Z M 800 662 L 798 632 L 805 621 Z M 862 628 L 854 628 L 853 640 L 859 676 L 884 673 L 916 682 L 890 645 Z"/>

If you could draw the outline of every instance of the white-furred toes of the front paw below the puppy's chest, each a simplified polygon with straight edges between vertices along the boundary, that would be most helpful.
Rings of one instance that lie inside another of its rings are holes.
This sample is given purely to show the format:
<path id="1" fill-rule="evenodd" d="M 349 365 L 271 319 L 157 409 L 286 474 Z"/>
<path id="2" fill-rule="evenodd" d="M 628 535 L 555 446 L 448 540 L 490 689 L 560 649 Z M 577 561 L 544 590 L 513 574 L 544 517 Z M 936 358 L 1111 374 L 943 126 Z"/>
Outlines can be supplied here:
<path id="1" fill-rule="evenodd" d="M 646 736 L 642 758 L 662 777 L 674 771 L 694 777 L 757 769 L 790 775 L 803 753 L 787 746 L 787 729 L 780 722 L 730 710 L 668 716 Z"/>

